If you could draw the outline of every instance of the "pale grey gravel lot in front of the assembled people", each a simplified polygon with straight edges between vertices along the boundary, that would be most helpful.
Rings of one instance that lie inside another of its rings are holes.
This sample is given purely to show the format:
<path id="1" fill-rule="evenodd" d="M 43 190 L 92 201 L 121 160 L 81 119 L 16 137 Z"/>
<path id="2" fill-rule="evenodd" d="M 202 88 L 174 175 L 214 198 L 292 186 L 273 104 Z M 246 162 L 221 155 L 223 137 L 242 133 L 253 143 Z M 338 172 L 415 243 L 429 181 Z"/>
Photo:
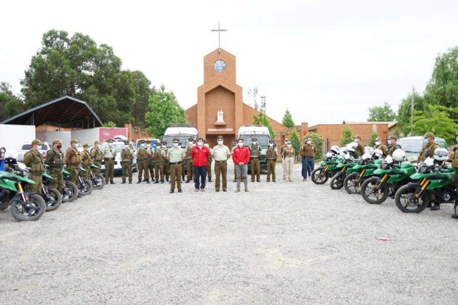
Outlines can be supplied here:
<path id="1" fill-rule="evenodd" d="M 1 211 L 0 303 L 456 303 L 451 205 L 369 205 L 300 164 L 234 193 L 228 167 L 227 192 L 117 177 L 37 222 Z"/>

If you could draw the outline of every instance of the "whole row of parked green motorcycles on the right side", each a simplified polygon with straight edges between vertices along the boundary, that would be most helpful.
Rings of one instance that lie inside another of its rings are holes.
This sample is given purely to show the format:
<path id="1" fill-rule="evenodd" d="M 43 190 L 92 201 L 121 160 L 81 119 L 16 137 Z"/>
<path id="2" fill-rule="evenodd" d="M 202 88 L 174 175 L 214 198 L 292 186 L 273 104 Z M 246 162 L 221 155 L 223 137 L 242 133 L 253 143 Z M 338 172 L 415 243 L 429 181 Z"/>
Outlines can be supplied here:
<path id="1" fill-rule="evenodd" d="M 329 180 L 331 189 L 344 188 L 349 194 L 361 194 L 370 204 L 381 204 L 388 197 L 405 213 L 420 213 L 427 207 L 451 203 L 452 217 L 458 218 L 458 198 L 454 183 L 455 169 L 445 148 L 434 150 L 434 157 L 418 163 L 405 160 L 405 152 L 397 149 L 382 159 L 382 151 L 353 158 L 355 145 L 346 146 L 345 156 L 339 147 L 331 147 L 311 175 L 315 184 Z"/>

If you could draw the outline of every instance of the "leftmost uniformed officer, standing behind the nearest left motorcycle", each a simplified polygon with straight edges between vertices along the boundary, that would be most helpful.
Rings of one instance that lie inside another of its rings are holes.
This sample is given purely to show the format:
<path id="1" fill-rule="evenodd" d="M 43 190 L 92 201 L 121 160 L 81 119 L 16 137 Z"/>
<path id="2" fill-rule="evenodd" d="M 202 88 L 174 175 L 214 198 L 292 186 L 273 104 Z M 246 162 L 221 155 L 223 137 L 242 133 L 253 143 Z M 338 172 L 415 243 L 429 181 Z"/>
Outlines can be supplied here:
<path id="1" fill-rule="evenodd" d="M 37 193 L 41 196 L 41 188 L 43 187 L 43 180 L 41 174 L 45 172 L 45 165 L 43 164 L 43 155 L 38 151 L 41 149 L 41 141 L 35 139 L 32 141 L 32 149 L 27 151 L 24 155 L 24 164 L 32 169 L 32 180 L 36 184 L 28 184 L 27 191 Z"/>

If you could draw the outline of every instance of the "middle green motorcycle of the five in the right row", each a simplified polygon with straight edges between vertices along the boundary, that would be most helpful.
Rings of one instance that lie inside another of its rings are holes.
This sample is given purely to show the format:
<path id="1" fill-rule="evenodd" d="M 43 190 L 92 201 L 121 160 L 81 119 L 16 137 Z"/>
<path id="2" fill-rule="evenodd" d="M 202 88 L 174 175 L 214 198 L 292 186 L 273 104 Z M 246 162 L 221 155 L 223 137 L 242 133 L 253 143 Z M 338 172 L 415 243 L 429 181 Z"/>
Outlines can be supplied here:
<path id="1" fill-rule="evenodd" d="M 359 194 L 363 182 L 373 175 L 374 170 L 382 165 L 381 159 L 374 159 L 375 156 L 370 157 L 368 154 L 361 157 L 358 165 L 353 166 L 347 170 L 347 177 L 345 177 L 343 185 L 347 193 Z"/>

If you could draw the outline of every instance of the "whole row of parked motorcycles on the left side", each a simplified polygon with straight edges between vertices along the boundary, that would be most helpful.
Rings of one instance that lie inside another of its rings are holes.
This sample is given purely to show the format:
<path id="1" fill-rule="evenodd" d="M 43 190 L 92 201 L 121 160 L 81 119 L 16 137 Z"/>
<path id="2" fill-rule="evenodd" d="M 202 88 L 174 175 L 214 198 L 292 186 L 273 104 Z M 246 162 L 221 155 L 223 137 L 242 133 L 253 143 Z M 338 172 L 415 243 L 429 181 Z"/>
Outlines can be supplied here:
<path id="1" fill-rule="evenodd" d="M 77 197 L 89 195 L 93 189 L 102 189 L 105 186 L 105 178 L 100 173 L 89 174 L 90 179 L 79 176 L 78 185 L 69 181 L 70 172 L 63 169 L 64 183 L 62 192 L 50 187 L 53 176 L 46 171 L 41 174 L 43 186 L 41 193 L 30 193 L 27 191 L 29 184 L 36 184 L 31 179 L 31 169 L 23 163 L 16 162 L 14 158 L 5 160 L 7 168 L 0 171 L 0 210 L 10 207 L 11 214 L 16 221 L 36 221 L 45 211 L 56 210 L 63 202 L 72 202 Z M 91 165 L 91 169 L 98 169 Z M 80 168 L 81 172 L 87 172 Z"/>

